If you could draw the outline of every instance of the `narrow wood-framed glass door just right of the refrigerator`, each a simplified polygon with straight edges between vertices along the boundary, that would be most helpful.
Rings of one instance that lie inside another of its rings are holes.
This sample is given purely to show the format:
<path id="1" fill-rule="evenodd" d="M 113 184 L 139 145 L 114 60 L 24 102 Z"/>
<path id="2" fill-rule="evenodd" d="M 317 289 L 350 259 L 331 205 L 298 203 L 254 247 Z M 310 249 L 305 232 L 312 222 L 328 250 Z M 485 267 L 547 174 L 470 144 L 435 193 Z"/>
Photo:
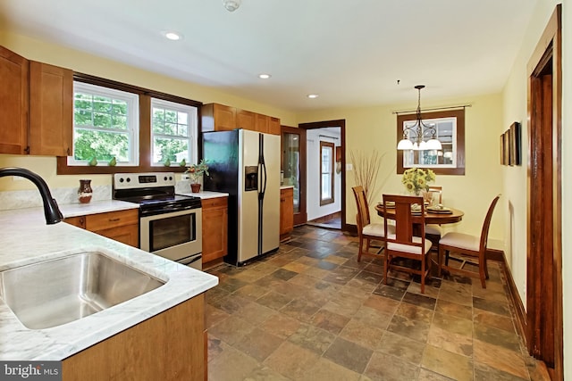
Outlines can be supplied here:
<path id="1" fill-rule="evenodd" d="M 305 224 L 306 130 L 282 126 L 283 185 L 294 186 L 294 226 Z"/>

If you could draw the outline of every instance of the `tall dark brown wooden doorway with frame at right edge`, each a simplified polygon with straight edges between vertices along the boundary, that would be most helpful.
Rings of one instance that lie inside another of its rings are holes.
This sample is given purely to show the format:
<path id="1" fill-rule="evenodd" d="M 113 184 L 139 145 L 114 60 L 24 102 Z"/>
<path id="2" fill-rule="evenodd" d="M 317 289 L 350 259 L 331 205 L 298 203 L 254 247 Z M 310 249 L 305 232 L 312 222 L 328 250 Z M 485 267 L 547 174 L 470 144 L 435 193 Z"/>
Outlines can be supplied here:
<path id="1" fill-rule="evenodd" d="M 546 363 L 553 380 L 564 378 L 561 29 L 559 4 L 526 67 L 526 345 L 530 354 Z M 546 197 L 547 192 L 551 192 L 551 197 Z"/>

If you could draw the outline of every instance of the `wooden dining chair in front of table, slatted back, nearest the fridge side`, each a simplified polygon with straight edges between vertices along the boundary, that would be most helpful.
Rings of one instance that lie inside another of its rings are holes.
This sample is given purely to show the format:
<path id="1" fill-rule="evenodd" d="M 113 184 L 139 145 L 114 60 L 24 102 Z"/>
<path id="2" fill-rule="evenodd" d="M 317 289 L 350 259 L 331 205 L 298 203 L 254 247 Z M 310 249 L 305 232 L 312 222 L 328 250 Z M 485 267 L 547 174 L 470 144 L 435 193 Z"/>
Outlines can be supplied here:
<path id="1" fill-rule="evenodd" d="M 395 204 L 395 231 L 392 233 L 387 219 L 383 221 L 385 234 L 385 284 L 390 269 L 407 271 L 421 276 L 421 294 L 425 294 L 425 277 L 431 272 L 431 241 L 425 238 L 425 205 L 423 197 L 408 195 L 383 195 L 383 210 L 387 214 L 388 204 Z M 420 209 L 416 213 L 413 205 Z M 417 236 L 414 234 L 417 234 Z M 419 269 L 406 267 L 395 261 L 407 258 L 421 262 Z"/>

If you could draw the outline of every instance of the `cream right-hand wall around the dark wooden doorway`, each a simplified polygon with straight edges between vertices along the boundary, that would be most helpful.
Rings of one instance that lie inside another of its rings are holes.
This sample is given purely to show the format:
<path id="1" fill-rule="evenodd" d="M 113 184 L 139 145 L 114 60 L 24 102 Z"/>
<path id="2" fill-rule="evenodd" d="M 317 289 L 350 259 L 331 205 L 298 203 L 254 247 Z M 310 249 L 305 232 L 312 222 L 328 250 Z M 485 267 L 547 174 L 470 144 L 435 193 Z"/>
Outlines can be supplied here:
<path id="1" fill-rule="evenodd" d="M 510 208 L 505 210 L 506 250 L 510 253 L 509 266 L 517 284 L 518 293 L 526 307 L 526 179 L 528 157 L 527 131 L 527 72 L 526 65 L 534 48 L 538 44 L 543 30 L 556 7 L 562 3 L 554 0 L 539 0 L 534 17 L 526 28 L 525 40 L 511 70 L 511 75 L 503 91 L 504 115 L 503 128 L 513 121 L 523 125 L 523 166 L 504 168 L 503 188 Z M 572 227 L 572 216 L 569 205 L 572 204 L 571 182 L 567 176 L 572 168 L 572 152 L 566 147 L 572 145 L 572 8 L 564 4 L 562 7 L 562 277 L 563 277 L 563 309 L 564 309 L 564 378 L 572 378 L 572 282 L 568 274 L 572 271 L 572 236 L 568 234 Z M 568 27 L 568 28 L 567 28 Z M 501 131 L 499 131 L 499 134 Z"/>

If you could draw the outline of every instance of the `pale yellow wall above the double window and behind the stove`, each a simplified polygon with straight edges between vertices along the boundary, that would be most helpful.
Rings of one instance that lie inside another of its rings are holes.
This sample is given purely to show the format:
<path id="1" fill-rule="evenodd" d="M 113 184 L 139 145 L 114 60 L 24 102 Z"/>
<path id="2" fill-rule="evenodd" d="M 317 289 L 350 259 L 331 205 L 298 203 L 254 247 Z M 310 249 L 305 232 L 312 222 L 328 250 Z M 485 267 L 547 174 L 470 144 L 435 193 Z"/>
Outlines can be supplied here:
<path id="1" fill-rule="evenodd" d="M 130 85 L 179 95 L 204 104 L 213 102 L 229 104 L 241 109 L 280 118 L 282 124 L 296 125 L 296 117 L 293 112 L 227 94 L 214 87 L 203 87 L 190 82 L 172 79 L 63 46 L 56 46 L 37 39 L 15 35 L 8 31 L 0 32 L 0 45 L 17 54 L 21 54 L 29 60 L 46 62 L 105 79 L 113 79 Z M 8 127 L 3 126 L 3 128 Z M 0 154 L 0 168 L 9 166 L 24 167 L 35 171 L 45 178 L 51 187 L 78 186 L 78 179 L 82 178 L 82 176 L 57 176 L 55 174 L 55 158 L 53 157 Z M 92 178 L 92 185 L 94 186 L 110 185 L 112 180 L 110 175 L 96 175 L 89 178 Z M 34 186 L 29 181 L 14 181 L 12 177 L 0 178 L 0 190 L 33 188 Z"/>

